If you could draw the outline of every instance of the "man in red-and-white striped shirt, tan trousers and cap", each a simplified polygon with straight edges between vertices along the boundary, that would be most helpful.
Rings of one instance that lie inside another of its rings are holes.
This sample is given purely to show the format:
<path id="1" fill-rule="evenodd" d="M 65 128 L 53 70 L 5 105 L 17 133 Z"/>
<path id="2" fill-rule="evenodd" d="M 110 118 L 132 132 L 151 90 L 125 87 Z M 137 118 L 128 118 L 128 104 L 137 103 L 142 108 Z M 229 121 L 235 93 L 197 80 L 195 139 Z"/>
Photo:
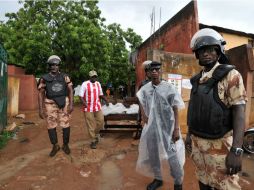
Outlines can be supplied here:
<path id="1" fill-rule="evenodd" d="M 88 134 L 91 138 L 90 147 L 96 149 L 99 142 L 99 132 L 104 126 L 104 116 L 101 110 L 100 99 L 104 99 L 108 105 L 107 98 L 103 95 L 101 84 L 97 81 L 97 72 L 89 72 L 90 80 L 82 83 L 79 97 L 83 103 L 83 112 L 86 119 Z"/>

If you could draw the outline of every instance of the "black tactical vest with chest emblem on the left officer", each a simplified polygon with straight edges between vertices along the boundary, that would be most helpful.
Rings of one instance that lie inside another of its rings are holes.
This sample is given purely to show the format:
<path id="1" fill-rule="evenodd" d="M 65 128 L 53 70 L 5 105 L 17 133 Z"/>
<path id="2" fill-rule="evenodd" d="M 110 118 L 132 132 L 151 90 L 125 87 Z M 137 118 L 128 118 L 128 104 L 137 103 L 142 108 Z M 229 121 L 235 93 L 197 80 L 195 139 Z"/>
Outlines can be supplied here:
<path id="1" fill-rule="evenodd" d="M 67 75 L 63 73 L 58 73 L 55 76 L 51 74 L 42 76 L 46 84 L 46 97 L 54 100 L 59 108 L 64 108 L 65 98 L 68 94 L 67 84 L 65 82 L 66 76 Z"/>

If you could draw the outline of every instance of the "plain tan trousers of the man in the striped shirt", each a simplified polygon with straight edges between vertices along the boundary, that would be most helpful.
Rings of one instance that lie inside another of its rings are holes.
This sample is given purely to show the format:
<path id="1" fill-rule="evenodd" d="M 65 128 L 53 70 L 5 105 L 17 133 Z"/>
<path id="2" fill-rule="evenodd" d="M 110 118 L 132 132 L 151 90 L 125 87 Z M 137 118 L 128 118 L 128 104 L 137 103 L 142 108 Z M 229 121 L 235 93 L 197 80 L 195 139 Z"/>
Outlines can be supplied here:
<path id="1" fill-rule="evenodd" d="M 99 138 L 100 130 L 104 126 L 104 115 L 102 111 L 84 112 L 88 134 L 92 141 Z"/>

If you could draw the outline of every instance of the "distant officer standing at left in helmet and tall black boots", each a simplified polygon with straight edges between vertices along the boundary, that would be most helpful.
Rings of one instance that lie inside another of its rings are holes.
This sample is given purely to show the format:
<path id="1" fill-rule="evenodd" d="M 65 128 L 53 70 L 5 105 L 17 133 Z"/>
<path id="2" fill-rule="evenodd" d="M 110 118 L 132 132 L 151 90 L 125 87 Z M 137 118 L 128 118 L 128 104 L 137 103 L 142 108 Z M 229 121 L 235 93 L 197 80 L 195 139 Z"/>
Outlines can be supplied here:
<path id="1" fill-rule="evenodd" d="M 70 154 L 70 114 L 73 111 L 72 82 L 67 74 L 59 71 L 61 59 L 57 55 L 48 58 L 49 73 L 43 75 L 38 83 L 39 90 L 39 116 L 46 119 L 48 135 L 53 148 L 50 157 L 60 150 L 57 140 L 56 127 L 59 125 L 63 131 L 62 150 Z M 45 111 L 44 111 L 45 108 Z"/>

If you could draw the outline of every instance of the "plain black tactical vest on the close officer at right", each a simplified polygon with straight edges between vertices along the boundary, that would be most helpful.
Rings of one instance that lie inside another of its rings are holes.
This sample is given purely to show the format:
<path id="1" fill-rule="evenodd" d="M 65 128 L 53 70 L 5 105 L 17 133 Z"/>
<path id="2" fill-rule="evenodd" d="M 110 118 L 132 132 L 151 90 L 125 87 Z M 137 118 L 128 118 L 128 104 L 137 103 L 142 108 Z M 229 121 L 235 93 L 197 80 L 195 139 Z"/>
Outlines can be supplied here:
<path id="1" fill-rule="evenodd" d="M 201 138 L 218 139 L 233 128 L 232 111 L 218 95 L 218 82 L 232 69 L 232 65 L 219 65 L 212 78 L 203 84 L 199 84 L 201 72 L 191 78 L 192 90 L 187 115 L 191 134 Z"/>

